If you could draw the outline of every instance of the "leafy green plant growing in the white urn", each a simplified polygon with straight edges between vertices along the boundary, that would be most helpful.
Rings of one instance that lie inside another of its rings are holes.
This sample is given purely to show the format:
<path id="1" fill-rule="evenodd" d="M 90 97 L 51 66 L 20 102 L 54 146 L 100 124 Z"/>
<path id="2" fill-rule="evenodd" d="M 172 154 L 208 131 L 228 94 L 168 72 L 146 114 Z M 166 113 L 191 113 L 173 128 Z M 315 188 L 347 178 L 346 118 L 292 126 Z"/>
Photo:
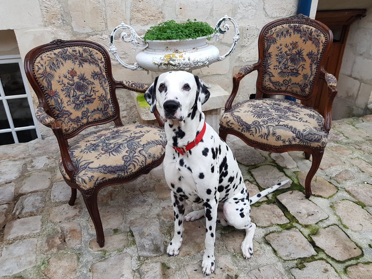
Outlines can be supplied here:
<path id="1" fill-rule="evenodd" d="M 174 20 L 159 23 L 147 30 L 143 39 L 146 40 L 184 40 L 210 36 L 216 31 L 206 22 L 187 19 L 185 23 Z"/>

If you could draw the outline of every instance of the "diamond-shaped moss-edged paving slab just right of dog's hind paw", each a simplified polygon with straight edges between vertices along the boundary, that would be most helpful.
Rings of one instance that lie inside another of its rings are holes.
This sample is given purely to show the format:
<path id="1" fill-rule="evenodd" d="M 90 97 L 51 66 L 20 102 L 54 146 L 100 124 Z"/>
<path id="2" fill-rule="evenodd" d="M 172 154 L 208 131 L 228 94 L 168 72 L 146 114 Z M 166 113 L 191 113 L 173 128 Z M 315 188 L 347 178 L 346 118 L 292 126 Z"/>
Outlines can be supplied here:
<path id="1" fill-rule="evenodd" d="M 272 232 L 265 238 L 283 260 L 311 257 L 317 254 L 297 228 Z"/>

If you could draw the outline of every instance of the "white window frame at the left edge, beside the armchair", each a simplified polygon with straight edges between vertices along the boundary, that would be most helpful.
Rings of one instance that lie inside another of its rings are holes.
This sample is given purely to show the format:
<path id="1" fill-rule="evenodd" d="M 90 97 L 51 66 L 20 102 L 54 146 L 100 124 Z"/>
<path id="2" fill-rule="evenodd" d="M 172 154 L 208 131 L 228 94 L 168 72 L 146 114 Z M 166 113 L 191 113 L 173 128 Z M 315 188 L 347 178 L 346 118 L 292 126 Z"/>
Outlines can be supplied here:
<path id="1" fill-rule="evenodd" d="M 22 74 L 23 86 L 25 86 L 26 94 L 5 96 L 4 89 L 3 89 L 1 79 L 0 79 L 0 101 L 3 102 L 4 109 L 5 109 L 5 112 L 6 112 L 6 116 L 7 116 L 7 119 L 9 121 L 9 126 L 10 126 L 10 128 L 7 128 L 7 129 L 0 129 L 0 134 L 6 133 L 6 132 L 12 132 L 14 142 L 19 143 L 17 133 L 16 133 L 17 131 L 35 129 L 36 130 L 36 135 L 38 136 L 38 138 L 41 138 L 41 134 L 40 134 L 39 126 L 38 126 L 38 121 L 37 121 L 36 116 L 35 116 L 35 109 L 33 108 L 33 104 L 32 104 L 31 92 L 30 92 L 30 89 L 28 87 L 28 82 L 27 82 L 27 78 L 26 78 L 25 69 L 23 68 L 22 58 L 21 58 L 20 55 L 2 55 L 2 56 L 0 56 L 0 64 L 9 64 L 9 63 L 18 63 L 19 69 L 20 69 L 21 74 Z M 33 120 L 34 125 L 15 128 L 15 126 L 13 124 L 12 115 L 10 114 L 10 110 L 9 110 L 7 100 L 21 99 L 21 98 L 27 98 L 27 100 L 28 100 L 28 104 L 30 106 L 30 111 L 31 111 L 32 120 Z"/>

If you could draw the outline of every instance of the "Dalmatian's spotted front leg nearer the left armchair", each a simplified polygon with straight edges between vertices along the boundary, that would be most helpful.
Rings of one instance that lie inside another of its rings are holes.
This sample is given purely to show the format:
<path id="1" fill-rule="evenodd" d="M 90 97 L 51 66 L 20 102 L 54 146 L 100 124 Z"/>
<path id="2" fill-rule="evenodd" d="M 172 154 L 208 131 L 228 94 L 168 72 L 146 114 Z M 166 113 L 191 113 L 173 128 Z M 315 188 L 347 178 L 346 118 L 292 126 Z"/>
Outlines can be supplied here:
<path id="1" fill-rule="evenodd" d="M 180 253 L 183 232 L 183 215 L 185 214 L 185 199 L 170 192 L 174 211 L 174 235 L 167 248 L 168 256 L 176 256 Z"/>

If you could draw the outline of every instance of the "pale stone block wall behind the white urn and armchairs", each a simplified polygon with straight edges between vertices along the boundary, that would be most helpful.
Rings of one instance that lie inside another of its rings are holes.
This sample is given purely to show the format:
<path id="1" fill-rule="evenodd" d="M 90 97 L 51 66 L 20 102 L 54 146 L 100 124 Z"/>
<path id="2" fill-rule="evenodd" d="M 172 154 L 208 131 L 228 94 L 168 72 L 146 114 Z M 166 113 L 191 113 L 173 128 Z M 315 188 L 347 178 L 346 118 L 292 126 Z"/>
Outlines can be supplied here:
<path id="1" fill-rule="evenodd" d="M 227 92 L 232 89 L 232 75 L 240 67 L 257 62 L 257 39 L 262 27 L 275 19 L 296 13 L 298 0 L 17 0 L 0 1 L 3 11 L 0 30 L 15 32 L 19 53 L 24 59 L 26 53 L 41 44 L 54 39 L 86 39 L 109 48 L 109 35 L 122 21 L 131 25 L 139 35 L 144 35 L 150 26 L 174 19 L 202 20 L 215 26 L 225 14 L 233 17 L 238 25 L 241 39 L 234 53 L 224 61 L 209 68 L 193 71 L 208 83 L 217 83 Z M 317 0 L 312 3 L 312 17 L 315 16 Z M 232 26 L 231 26 L 232 27 Z M 232 28 L 233 29 L 233 28 Z M 224 54 L 230 48 L 233 30 L 214 42 Z M 135 51 L 131 44 L 117 41 L 115 44 L 122 59 L 128 64 L 135 62 Z M 134 80 L 152 83 L 158 73 L 128 70 L 115 59 L 112 60 L 116 80 Z M 251 74 L 242 81 L 237 101 L 248 98 L 255 92 L 257 75 Z M 37 99 L 33 94 L 34 105 Z M 121 116 L 124 123 L 137 122 L 135 104 L 130 92 L 118 90 Z"/>

